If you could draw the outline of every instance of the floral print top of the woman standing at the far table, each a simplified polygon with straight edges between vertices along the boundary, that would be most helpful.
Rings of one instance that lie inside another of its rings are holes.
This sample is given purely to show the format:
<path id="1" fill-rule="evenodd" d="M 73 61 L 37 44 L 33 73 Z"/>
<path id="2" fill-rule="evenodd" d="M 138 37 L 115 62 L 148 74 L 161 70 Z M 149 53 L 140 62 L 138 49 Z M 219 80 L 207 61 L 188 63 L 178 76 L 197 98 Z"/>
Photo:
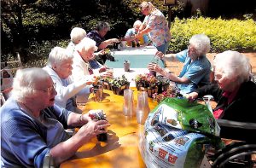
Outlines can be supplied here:
<path id="1" fill-rule="evenodd" d="M 156 9 L 151 14 L 148 14 L 143 20 L 146 28 L 150 28 L 148 36 L 153 45 L 158 47 L 171 40 L 171 32 L 169 30 L 165 15 Z"/>

